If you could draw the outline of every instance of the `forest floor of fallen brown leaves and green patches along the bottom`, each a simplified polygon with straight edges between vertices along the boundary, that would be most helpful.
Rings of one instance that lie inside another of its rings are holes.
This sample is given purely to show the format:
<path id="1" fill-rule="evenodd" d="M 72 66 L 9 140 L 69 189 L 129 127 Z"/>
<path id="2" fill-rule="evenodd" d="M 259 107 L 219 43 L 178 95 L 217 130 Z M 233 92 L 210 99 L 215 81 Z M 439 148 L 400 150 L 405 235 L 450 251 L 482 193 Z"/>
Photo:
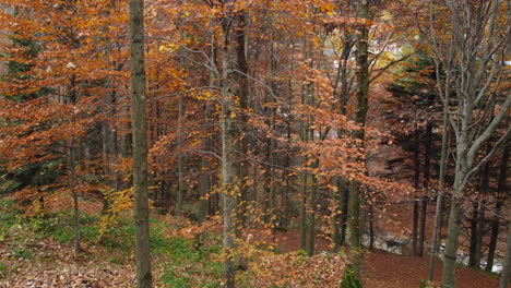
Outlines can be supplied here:
<path id="1" fill-rule="evenodd" d="M 97 242 L 99 218 L 84 214 L 83 251 L 75 254 L 69 213 L 26 219 L 7 207 L 0 205 L 0 288 L 133 287 L 133 227 L 128 218 L 119 219 Z M 189 230 L 173 218 L 152 219 L 155 287 L 221 287 L 219 233 L 209 227 L 211 235 L 198 248 L 193 238 L 179 236 L 183 229 Z M 329 251 L 330 242 L 318 239 L 317 248 Z M 320 252 L 307 257 L 298 251 L 296 232 L 278 233 L 275 251 L 248 252 L 249 269 L 239 273 L 239 287 L 338 287 L 345 256 Z M 427 277 L 428 260 L 376 250 L 367 252 L 365 268 L 366 288 L 414 288 Z M 438 263 L 437 278 L 440 269 Z M 495 275 L 462 266 L 456 277 L 460 288 L 498 287 Z"/>

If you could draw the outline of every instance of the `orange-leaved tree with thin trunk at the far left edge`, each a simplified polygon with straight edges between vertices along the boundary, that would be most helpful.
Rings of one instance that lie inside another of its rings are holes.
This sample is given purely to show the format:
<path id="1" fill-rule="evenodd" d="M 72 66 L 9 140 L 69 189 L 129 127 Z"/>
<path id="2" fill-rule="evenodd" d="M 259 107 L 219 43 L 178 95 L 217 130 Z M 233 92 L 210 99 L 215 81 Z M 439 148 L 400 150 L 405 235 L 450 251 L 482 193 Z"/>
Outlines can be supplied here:
<path id="1" fill-rule="evenodd" d="M 1 133 L 10 139 L 1 144 L 5 149 L 2 165 L 9 170 L 8 177 L 25 178 L 24 183 L 14 188 L 20 202 L 37 200 L 43 212 L 48 194 L 70 192 L 79 252 L 79 197 L 93 184 L 84 177 L 92 165 L 85 157 L 83 143 L 96 132 L 95 124 L 100 118 L 95 108 L 98 97 L 91 92 L 103 93 L 100 82 L 105 77 L 104 65 L 97 61 L 100 52 L 90 49 L 79 31 L 96 32 L 94 27 L 84 27 L 83 19 L 78 16 L 88 12 L 82 3 L 10 4 L 15 13 L 2 14 L 11 21 L 2 22 L 1 27 L 12 35 L 11 41 L 2 43 L 2 52 L 14 72 L 4 75 L 1 85 L 5 100 L 1 107 L 5 120 Z M 29 21 L 17 24 L 23 17 Z M 81 65 L 84 57 L 88 64 Z M 21 103 L 25 104 L 26 113 L 13 110 Z M 46 175 L 48 168 L 51 171 Z"/>

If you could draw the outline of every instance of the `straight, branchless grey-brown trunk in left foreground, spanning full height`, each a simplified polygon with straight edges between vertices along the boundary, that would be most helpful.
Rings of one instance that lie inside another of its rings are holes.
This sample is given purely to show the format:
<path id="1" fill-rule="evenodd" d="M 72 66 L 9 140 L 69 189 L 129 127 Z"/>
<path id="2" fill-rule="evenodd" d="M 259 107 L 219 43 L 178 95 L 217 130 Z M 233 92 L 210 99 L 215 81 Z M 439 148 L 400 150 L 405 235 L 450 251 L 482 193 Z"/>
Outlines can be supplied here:
<path id="1" fill-rule="evenodd" d="M 145 119 L 145 68 L 143 0 L 130 0 L 131 123 L 133 136 L 133 193 L 136 286 L 152 287 L 148 200 L 147 128 Z"/>

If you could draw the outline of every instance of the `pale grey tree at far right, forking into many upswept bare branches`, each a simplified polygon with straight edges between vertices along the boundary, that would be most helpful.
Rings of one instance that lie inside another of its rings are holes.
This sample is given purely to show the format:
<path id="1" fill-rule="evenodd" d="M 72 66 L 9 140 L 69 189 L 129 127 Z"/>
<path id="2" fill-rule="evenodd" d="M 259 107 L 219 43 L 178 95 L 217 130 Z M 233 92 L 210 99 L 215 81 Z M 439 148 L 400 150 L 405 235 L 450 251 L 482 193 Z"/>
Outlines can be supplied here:
<path id="1" fill-rule="evenodd" d="M 433 9 L 433 1 L 429 5 L 430 28 L 426 36 L 435 52 L 438 93 L 445 109 L 455 103 L 449 121 L 456 139 L 456 167 L 442 275 L 443 287 L 452 288 L 466 187 L 511 134 L 510 128 L 504 129 L 494 147 L 480 155 L 480 147 L 511 106 L 511 93 L 499 91 L 500 81 L 507 77 L 502 57 L 511 25 L 506 14 L 509 5 L 502 1 L 449 1 L 439 10 Z M 449 13 L 450 23 L 437 16 L 440 11 Z M 448 33 L 443 35 L 448 36 L 440 37 L 439 28 L 444 28 Z M 445 71 L 443 79 L 441 69 Z"/>

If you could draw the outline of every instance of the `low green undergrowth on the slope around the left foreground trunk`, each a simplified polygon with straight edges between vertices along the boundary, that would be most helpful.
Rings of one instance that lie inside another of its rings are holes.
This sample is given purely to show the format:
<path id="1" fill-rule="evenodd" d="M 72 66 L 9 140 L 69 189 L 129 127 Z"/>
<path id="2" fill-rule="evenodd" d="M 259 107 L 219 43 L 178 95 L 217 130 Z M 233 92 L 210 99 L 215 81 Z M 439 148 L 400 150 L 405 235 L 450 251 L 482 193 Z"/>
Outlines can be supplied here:
<path id="1" fill-rule="evenodd" d="M 71 211 L 52 214 L 25 216 L 10 200 L 0 199 L 0 244 L 9 242 L 11 255 L 16 259 L 35 261 L 33 250 L 44 239 L 52 239 L 61 244 L 74 244 L 74 220 Z M 115 265 L 134 265 L 134 226 L 131 214 L 124 213 L 109 224 L 100 240 L 100 215 L 80 213 L 81 242 L 85 249 L 103 248 L 107 253 L 102 255 Z M 168 237 L 173 227 L 152 217 L 151 250 L 153 266 L 161 271 L 155 275 L 164 287 L 221 287 L 222 252 L 221 240 L 213 235 L 197 239 Z M 207 238 L 207 239 L 206 239 Z M 205 244 L 207 242 L 207 244 Z M 88 255 L 91 257 L 91 255 Z M 94 257 L 94 255 L 92 255 Z M 47 260 L 51 261 L 48 255 Z M 94 261 L 94 259 L 90 259 Z M 9 268 L 0 263 L 0 278 Z"/>

